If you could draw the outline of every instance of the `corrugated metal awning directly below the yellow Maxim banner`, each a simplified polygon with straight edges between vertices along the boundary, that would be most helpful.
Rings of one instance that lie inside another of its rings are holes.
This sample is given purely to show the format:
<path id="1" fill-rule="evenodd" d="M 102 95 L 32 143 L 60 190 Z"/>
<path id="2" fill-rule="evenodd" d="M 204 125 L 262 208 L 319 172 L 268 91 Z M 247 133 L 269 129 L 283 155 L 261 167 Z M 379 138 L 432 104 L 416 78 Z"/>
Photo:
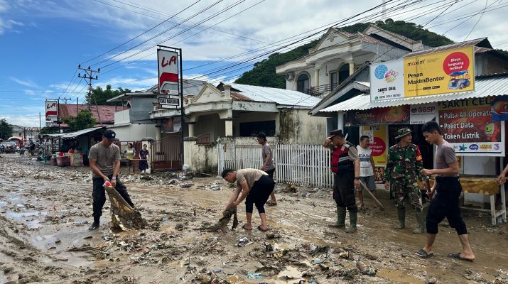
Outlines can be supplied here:
<path id="1" fill-rule="evenodd" d="M 379 102 L 370 102 L 370 94 L 352 97 L 345 102 L 322 109 L 323 112 L 350 111 L 374 109 L 377 107 L 395 107 L 405 104 L 426 104 L 431 102 L 454 101 L 456 99 L 470 99 L 474 97 L 489 97 L 508 94 L 508 76 L 480 77 L 476 79 L 475 91 L 449 94 L 434 94 L 423 97 L 408 97 L 404 99 L 387 99 Z"/>

